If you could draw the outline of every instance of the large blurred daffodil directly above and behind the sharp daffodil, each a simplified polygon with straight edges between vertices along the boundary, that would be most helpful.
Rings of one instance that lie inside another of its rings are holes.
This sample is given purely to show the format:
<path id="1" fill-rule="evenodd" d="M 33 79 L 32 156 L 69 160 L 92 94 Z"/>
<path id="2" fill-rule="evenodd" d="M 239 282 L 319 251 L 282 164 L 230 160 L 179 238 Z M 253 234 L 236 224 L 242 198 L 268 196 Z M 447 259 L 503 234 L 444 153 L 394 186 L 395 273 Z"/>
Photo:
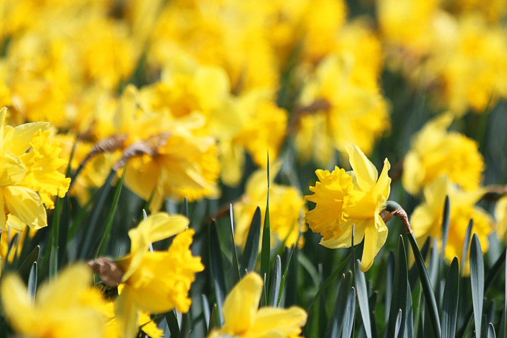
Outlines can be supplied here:
<path id="1" fill-rule="evenodd" d="M 319 165 L 328 165 L 333 149 L 345 153 L 345 142 L 369 154 L 375 139 L 389 128 L 377 74 L 356 70 L 360 66 L 351 53 L 328 55 L 305 84 L 300 105 L 315 111 L 302 112 L 298 124 L 295 143 L 302 160 L 316 157 Z M 368 77 L 373 80 L 356 80 Z"/>

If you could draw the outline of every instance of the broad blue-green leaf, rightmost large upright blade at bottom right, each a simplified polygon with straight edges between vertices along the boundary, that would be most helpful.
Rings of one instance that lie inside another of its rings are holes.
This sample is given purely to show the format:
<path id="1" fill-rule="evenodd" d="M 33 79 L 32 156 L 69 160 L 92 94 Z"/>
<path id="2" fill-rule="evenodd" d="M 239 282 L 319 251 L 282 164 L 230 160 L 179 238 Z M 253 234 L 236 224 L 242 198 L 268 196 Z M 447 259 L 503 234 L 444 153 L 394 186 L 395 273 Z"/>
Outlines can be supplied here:
<path id="1" fill-rule="evenodd" d="M 482 333 L 481 320 L 484 300 L 484 261 L 481 242 L 477 233 L 474 233 L 472 244 L 470 244 L 470 285 L 472 286 L 475 328 L 477 336 L 480 336 Z"/>

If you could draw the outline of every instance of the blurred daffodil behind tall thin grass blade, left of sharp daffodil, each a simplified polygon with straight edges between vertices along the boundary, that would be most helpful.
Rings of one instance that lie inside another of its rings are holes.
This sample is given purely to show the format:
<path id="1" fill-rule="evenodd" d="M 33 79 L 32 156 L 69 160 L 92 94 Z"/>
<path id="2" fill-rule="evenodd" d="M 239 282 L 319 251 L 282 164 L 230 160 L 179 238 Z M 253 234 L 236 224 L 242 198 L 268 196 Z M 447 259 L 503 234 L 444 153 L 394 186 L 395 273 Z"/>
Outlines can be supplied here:
<path id="1" fill-rule="evenodd" d="M 280 163 L 275 163 L 270 170 L 272 181 L 277 175 Z M 261 224 L 264 224 L 266 214 L 266 201 L 268 197 L 268 184 L 266 182 L 267 170 L 259 169 L 254 172 L 246 182 L 245 193 L 234 204 L 234 240 L 236 245 L 245 244 L 250 223 L 257 207 L 261 208 Z M 271 183 L 269 187 L 269 221 L 271 229 L 271 246 L 285 241 L 290 247 L 298 241 L 300 231 L 307 230 L 302 222 L 305 200 L 301 192 L 291 186 Z M 298 245 L 304 244 L 303 237 Z"/>

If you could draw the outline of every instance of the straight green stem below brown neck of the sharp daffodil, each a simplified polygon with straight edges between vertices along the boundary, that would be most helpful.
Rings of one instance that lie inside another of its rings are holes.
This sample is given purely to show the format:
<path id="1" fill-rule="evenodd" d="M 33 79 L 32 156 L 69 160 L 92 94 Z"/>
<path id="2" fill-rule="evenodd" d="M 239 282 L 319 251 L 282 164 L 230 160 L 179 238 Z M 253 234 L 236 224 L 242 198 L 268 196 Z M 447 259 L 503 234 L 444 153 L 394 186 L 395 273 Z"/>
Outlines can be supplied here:
<path id="1" fill-rule="evenodd" d="M 437 338 L 441 338 L 442 333 L 437 310 L 437 302 L 435 301 L 435 296 L 429 282 L 428 272 L 426 271 L 426 266 L 424 265 L 424 260 L 422 259 L 421 252 L 417 247 L 417 242 L 414 238 L 414 234 L 408 233 L 407 235 L 409 238 L 410 246 L 412 247 L 412 252 L 414 253 L 415 263 L 417 264 L 417 271 L 419 272 L 419 279 L 421 280 L 422 292 L 426 301 L 426 310 L 428 312 L 429 320 L 431 322 L 435 336 Z"/>

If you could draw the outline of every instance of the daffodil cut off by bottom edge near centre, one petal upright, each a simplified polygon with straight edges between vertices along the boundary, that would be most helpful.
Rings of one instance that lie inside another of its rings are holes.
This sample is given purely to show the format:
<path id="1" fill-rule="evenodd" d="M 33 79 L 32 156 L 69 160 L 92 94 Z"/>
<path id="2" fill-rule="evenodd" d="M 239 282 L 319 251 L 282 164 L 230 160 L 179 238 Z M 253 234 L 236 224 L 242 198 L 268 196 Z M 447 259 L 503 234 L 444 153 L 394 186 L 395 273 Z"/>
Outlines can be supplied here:
<path id="1" fill-rule="evenodd" d="M 210 337 L 228 334 L 239 338 L 286 337 L 300 335 L 306 324 L 306 312 L 299 307 L 288 309 L 261 308 L 264 283 L 256 273 L 249 273 L 227 295 L 224 307 L 224 326 Z"/>

